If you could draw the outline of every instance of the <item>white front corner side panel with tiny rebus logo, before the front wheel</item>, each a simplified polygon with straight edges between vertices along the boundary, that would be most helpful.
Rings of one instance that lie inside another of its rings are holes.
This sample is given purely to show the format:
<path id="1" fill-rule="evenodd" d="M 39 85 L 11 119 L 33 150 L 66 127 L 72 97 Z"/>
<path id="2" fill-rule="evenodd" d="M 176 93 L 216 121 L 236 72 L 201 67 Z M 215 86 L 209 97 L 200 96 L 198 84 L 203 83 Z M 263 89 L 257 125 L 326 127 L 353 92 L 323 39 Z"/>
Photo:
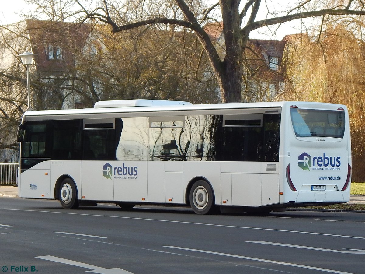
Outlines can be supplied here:
<path id="1" fill-rule="evenodd" d="M 51 198 L 51 165 L 43 161 L 20 173 L 18 183 L 21 185 L 22 198 Z"/>

